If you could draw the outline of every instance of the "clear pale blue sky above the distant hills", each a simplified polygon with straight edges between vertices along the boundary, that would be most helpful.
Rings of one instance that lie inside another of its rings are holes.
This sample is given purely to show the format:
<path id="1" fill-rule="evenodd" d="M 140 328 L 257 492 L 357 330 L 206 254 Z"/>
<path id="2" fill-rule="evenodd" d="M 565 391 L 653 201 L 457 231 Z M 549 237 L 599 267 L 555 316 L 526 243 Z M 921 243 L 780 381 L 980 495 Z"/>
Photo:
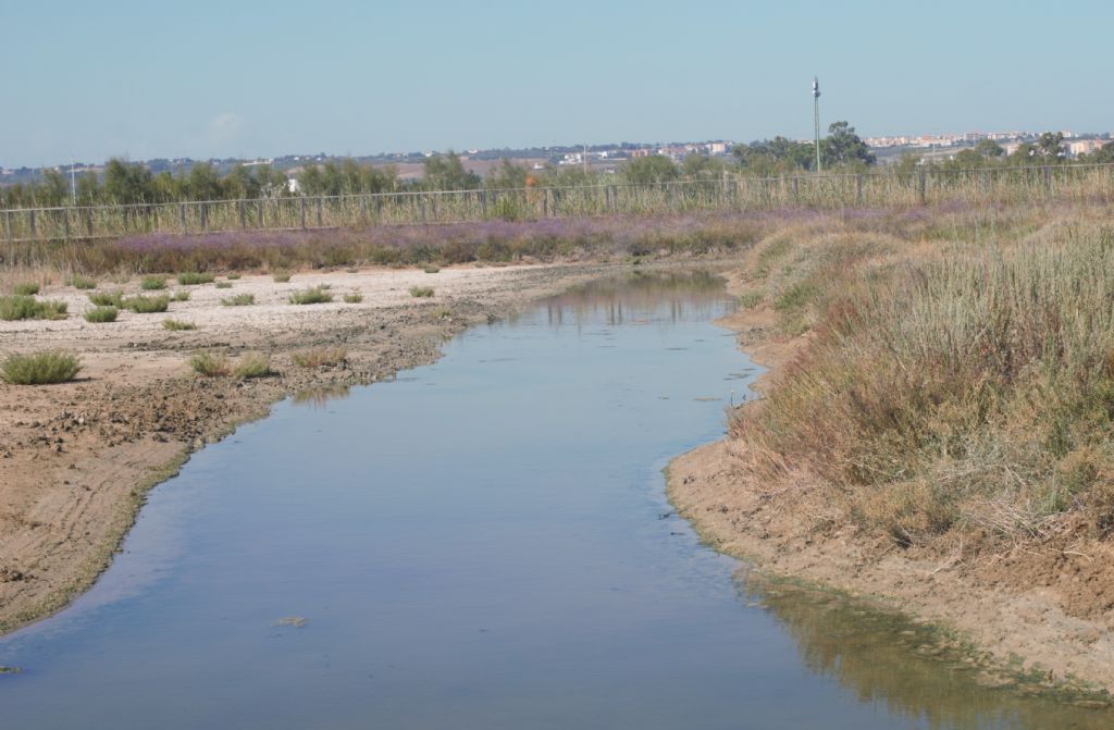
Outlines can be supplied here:
<path id="1" fill-rule="evenodd" d="M 0 0 L 0 166 L 1114 129 L 1111 0 Z"/>

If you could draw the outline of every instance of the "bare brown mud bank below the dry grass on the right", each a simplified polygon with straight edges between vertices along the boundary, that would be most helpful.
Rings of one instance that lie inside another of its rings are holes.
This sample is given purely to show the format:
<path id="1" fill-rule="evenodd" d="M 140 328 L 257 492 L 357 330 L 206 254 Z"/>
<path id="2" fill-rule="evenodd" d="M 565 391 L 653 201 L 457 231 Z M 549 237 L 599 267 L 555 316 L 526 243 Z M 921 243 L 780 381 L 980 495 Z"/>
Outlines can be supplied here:
<path id="1" fill-rule="evenodd" d="M 733 284 L 737 282 L 733 281 Z M 769 312 L 721 321 L 740 347 L 770 368 L 759 388 L 776 387 L 779 366 L 807 345 L 807 335 L 776 334 Z M 1114 606 L 1108 594 L 1110 545 L 1079 544 L 1071 535 L 1040 551 L 1024 546 L 971 559 L 918 548 L 853 526 L 830 529 L 811 485 L 773 488 L 749 469 L 742 439 L 724 439 L 685 454 L 667 470 L 670 498 L 716 549 L 771 575 L 794 576 L 881 601 L 917 620 L 954 629 L 991 664 L 1046 683 L 1114 691 Z M 986 681 L 996 681 L 989 674 Z"/>

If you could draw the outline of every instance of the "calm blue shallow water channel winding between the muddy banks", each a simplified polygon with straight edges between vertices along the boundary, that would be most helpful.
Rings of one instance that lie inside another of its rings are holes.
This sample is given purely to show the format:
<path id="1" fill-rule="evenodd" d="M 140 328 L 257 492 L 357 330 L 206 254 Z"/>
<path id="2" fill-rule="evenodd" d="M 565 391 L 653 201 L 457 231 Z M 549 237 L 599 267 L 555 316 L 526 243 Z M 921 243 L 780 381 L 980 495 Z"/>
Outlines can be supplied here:
<path id="1" fill-rule="evenodd" d="M 771 590 L 662 467 L 755 374 L 703 275 L 602 282 L 194 456 L 68 611 L 0 640 L 3 728 L 1106 728 Z"/>

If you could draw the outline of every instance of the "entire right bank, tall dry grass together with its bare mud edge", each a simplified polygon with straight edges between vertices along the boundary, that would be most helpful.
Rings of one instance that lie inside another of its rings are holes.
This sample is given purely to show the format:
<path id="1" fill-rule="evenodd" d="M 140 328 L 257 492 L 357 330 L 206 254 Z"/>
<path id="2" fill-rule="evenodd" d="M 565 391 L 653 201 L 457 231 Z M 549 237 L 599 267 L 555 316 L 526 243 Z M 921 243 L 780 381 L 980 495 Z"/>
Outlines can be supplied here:
<path id="1" fill-rule="evenodd" d="M 671 498 L 762 570 L 1114 690 L 1112 272 L 1101 207 L 766 236 L 724 322 L 765 397 L 674 460 Z"/>

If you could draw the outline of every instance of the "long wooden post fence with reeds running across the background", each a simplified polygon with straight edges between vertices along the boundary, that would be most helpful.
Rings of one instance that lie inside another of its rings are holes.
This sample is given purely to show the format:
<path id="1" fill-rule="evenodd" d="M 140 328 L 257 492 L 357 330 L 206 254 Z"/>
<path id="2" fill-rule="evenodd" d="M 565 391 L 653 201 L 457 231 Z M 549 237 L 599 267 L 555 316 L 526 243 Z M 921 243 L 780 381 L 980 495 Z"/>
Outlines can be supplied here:
<path id="1" fill-rule="evenodd" d="M 788 207 L 837 210 L 1051 199 L 1114 202 L 1114 165 L 998 167 L 958 172 L 753 177 L 646 185 L 377 193 L 237 201 L 63 206 L 0 211 L 2 240 L 76 241 L 145 233 L 442 224 L 586 215 L 639 215 Z"/>

